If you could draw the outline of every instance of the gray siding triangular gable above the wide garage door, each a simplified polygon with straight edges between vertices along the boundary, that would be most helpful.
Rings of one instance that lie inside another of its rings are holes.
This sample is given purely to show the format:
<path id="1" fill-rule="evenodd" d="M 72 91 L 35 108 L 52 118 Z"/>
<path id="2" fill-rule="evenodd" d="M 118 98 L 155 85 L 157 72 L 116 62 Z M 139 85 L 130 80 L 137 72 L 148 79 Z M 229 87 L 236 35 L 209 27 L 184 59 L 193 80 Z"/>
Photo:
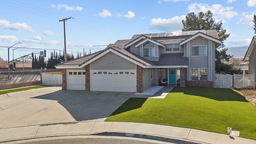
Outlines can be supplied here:
<path id="1" fill-rule="evenodd" d="M 110 62 L 113 62 L 112 64 Z M 109 52 L 90 64 L 91 70 L 136 70 L 136 64 Z"/>

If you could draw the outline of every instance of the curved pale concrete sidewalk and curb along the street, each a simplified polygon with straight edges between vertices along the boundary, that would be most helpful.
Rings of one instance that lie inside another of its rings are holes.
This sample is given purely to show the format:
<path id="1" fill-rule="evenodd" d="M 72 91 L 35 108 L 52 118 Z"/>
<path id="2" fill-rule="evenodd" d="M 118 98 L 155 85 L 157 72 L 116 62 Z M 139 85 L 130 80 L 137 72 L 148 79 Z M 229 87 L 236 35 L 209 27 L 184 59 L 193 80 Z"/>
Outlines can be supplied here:
<path id="1" fill-rule="evenodd" d="M 159 140 L 159 143 L 256 144 L 256 140 L 230 137 L 226 134 L 134 122 L 73 122 L 0 129 L 0 143 L 5 144 L 48 140 L 48 138 L 54 139 L 53 137 L 57 139 L 59 136 L 66 136 L 62 137 L 63 139 L 68 138 L 67 136 L 85 136 L 84 138 L 120 136 L 120 139 L 145 138 Z"/>

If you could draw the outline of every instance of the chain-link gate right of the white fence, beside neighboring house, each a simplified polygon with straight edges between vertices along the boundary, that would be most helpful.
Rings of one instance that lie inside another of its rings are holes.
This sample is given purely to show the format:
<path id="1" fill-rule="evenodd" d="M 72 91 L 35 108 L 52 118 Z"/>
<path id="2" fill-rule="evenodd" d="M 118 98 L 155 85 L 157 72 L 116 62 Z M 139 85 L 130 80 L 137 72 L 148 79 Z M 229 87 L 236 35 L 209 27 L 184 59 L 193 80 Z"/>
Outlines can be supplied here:
<path id="1" fill-rule="evenodd" d="M 234 88 L 254 88 L 255 74 L 234 74 Z"/>

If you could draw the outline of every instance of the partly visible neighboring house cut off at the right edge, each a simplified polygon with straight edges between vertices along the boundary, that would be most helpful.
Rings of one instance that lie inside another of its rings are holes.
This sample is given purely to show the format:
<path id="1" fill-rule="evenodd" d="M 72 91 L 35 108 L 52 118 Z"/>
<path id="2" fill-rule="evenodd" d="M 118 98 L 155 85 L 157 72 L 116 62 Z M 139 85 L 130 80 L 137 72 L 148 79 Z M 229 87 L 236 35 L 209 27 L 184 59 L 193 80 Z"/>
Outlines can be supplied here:
<path id="1" fill-rule="evenodd" d="M 244 56 L 244 62 L 249 62 L 248 74 L 255 74 L 256 72 L 256 36 L 252 37 L 252 41 Z M 254 82 L 256 82 L 254 76 Z"/>

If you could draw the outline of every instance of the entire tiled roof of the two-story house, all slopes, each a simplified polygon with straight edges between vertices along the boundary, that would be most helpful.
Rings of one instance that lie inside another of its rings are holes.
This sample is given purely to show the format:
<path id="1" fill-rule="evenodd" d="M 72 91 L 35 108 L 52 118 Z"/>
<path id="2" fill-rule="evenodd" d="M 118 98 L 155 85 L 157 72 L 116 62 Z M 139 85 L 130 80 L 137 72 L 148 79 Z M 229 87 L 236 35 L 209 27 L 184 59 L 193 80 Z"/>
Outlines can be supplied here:
<path id="1" fill-rule="evenodd" d="M 215 39 L 219 39 L 218 33 L 216 30 L 206 30 L 207 36 L 211 36 Z M 123 54 L 124 56 L 127 56 L 128 58 L 131 58 L 132 60 L 135 60 L 136 62 L 139 62 L 140 64 L 143 64 L 144 66 L 185 66 L 188 65 L 188 58 L 183 57 L 183 53 L 177 53 L 177 54 L 160 54 L 159 60 L 157 61 L 149 61 L 145 58 L 140 57 L 139 55 L 136 55 L 126 49 L 124 49 L 124 46 L 133 42 L 134 40 L 140 38 L 141 36 L 146 36 L 150 38 L 151 40 L 154 40 L 156 42 L 181 42 L 183 40 L 186 40 L 187 38 L 190 38 L 190 36 L 170 36 L 170 37 L 164 37 L 164 38 L 151 38 L 152 34 L 138 34 L 132 36 L 130 40 L 118 40 L 114 44 L 109 44 L 106 49 L 100 50 L 98 52 L 95 52 L 90 55 L 86 55 L 80 58 L 76 58 L 74 60 L 70 60 L 68 62 L 64 62 L 62 64 L 58 64 L 56 66 L 72 66 L 78 68 L 82 64 L 89 62 L 99 54 L 102 54 L 108 49 L 115 50 L 116 52 L 119 52 L 120 54 Z M 192 35 L 193 36 L 193 35 Z"/>

